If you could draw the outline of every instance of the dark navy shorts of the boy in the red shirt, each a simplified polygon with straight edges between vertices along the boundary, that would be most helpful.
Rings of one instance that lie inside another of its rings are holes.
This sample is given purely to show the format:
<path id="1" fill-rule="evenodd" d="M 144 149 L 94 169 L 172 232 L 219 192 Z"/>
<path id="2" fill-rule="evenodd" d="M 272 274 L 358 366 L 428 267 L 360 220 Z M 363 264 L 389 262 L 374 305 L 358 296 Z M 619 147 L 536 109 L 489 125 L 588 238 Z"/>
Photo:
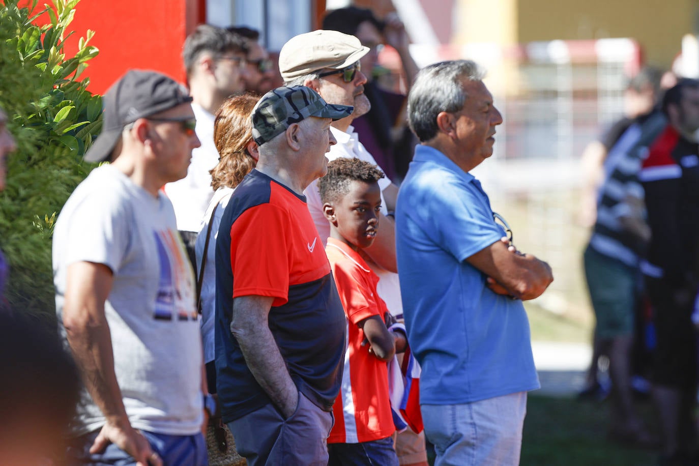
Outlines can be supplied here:
<path id="1" fill-rule="evenodd" d="M 328 444 L 328 466 L 398 466 L 393 437 L 358 444 Z"/>

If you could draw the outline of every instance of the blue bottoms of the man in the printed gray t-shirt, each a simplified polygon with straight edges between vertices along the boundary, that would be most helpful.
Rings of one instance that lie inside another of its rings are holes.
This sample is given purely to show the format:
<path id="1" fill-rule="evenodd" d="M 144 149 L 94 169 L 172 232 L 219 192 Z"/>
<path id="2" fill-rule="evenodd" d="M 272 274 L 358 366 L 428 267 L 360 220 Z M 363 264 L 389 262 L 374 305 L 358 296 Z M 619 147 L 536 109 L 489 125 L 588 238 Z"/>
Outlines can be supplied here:
<path id="1" fill-rule="evenodd" d="M 206 441 L 201 433 L 196 435 L 165 435 L 140 431 L 163 464 L 207 466 L 209 464 Z M 136 460 L 129 453 L 109 444 L 103 453 L 89 452 L 99 430 L 73 439 L 66 451 L 67 465 L 128 466 L 135 465 Z"/>

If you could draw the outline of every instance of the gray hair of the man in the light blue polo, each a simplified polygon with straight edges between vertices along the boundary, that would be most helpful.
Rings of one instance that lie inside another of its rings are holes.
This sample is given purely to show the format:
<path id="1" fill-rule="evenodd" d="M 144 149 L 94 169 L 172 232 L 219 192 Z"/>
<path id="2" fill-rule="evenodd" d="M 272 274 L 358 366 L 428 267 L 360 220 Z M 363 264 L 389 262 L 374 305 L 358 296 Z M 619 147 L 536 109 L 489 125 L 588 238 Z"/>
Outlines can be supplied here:
<path id="1" fill-rule="evenodd" d="M 485 71 L 475 61 L 441 61 L 422 68 L 408 94 L 408 124 L 421 143 L 431 140 L 439 131 L 440 112 L 458 112 L 468 95 L 461 81 L 480 81 Z"/>

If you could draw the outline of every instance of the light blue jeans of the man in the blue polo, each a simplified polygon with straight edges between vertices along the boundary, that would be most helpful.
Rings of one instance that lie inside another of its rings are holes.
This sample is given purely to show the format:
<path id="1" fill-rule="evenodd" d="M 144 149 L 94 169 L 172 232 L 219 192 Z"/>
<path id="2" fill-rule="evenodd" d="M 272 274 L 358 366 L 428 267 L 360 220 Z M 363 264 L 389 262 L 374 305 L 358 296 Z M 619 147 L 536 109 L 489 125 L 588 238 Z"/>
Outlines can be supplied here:
<path id="1" fill-rule="evenodd" d="M 420 409 L 435 466 L 519 465 L 526 392 Z"/>

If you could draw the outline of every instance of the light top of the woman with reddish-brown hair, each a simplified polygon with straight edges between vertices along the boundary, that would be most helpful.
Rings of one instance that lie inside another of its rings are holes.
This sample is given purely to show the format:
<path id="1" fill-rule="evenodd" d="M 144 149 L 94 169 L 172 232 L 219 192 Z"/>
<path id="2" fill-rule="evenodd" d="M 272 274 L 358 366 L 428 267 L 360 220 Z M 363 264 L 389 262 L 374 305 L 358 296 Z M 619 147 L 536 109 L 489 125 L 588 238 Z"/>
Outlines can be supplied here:
<path id="1" fill-rule="evenodd" d="M 196 272 L 201 270 L 201 259 L 204 256 L 204 245 L 206 245 L 206 232 L 209 228 L 211 220 L 211 234 L 209 238 L 209 247 L 206 252 L 206 264 L 204 265 L 204 279 L 201 282 L 201 339 L 204 344 L 204 362 L 210 363 L 214 360 L 214 326 L 216 324 L 216 238 L 218 237 L 218 229 L 221 225 L 221 217 L 226 210 L 228 201 L 231 200 L 233 189 L 229 187 L 220 187 L 214 193 L 209 206 L 206 207 L 206 213 L 201 219 L 201 228 L 199 235 L 194 243 L 194 252 L 196 254 Z M 218 207 L 216 207 L 218 206 Z M 211 212 L 216 207 L 216 212 L 213 219 Z"/>

